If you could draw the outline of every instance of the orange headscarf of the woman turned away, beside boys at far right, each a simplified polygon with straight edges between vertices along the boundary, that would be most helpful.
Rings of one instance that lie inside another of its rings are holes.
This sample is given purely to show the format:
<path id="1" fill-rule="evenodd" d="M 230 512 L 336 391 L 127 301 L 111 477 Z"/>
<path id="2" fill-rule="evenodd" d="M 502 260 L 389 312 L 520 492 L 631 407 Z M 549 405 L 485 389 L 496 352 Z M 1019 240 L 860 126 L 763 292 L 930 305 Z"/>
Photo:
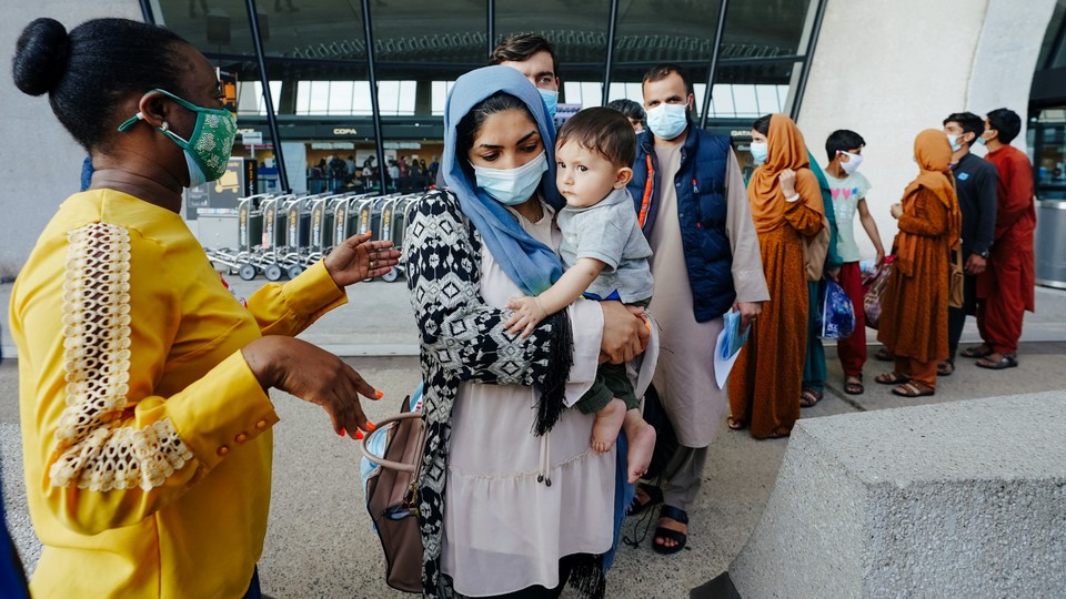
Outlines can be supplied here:
<path id="1" fill-rule="evenodd" d="M 903 210 L 906 212 L 917 200 L 921 189 L 933 192 L 947 209 L 948 246 L 955 248 L 959 243 L 963 217 L 958 211 L 958 197 L 955 195 L 951 167 L 952 144 L 948 143 L 947 135 L 939 129 L 926 129 L 918 133 L 914 139 L 914 160 L 917 161 L 921 172 L 903 192 Z M 916 242 L 913 235 L 905 233 L 898 237 L 896 254 L 904 274 L 913 274 Z"/>

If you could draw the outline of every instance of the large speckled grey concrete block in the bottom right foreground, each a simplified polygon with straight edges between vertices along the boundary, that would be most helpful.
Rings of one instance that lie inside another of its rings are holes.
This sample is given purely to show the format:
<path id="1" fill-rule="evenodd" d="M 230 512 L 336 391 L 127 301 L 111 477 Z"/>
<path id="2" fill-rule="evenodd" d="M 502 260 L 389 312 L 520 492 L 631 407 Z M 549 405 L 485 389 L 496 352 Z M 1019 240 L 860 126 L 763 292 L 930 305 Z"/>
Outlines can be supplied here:
<path id="1" fill-rule="evenodd" d="M 1066 392 L 804 419 L 728 575 L 763 597 L 1066 597 Z"/>

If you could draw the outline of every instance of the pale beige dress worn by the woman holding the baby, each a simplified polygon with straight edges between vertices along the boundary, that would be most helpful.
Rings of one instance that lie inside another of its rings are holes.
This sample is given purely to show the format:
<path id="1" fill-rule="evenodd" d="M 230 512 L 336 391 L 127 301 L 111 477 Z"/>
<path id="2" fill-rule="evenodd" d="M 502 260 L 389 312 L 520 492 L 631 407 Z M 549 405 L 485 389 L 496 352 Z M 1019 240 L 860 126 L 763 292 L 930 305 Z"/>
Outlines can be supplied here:
<path id="1" fill-rule="evenodd" d="M 549 211 L 537 223 L 519 216 L 531 235 L 552 247 L 559 231 Z M 482 246 L 481 294 L 504 307 L 522 295 Z M 576 402 L 596 375 L 603 313 L 597 303 L 569 308 L 574 328 L 574 366 L 566 400 Z M 533 585 L 559 585 L 559 559 L 599 555 L 611 548 L 615 450 L 590 447 L 594 415 L 577 409 L 544 437 L 532 434 L 539 392 L 517 385 L 460 385 L 452 410 L 442 570 L 456 592 L 503 595 Z M 454 443 L 456 438 L 476 443 Z M 547 475 L 549 487 L 537 481 Z"/>

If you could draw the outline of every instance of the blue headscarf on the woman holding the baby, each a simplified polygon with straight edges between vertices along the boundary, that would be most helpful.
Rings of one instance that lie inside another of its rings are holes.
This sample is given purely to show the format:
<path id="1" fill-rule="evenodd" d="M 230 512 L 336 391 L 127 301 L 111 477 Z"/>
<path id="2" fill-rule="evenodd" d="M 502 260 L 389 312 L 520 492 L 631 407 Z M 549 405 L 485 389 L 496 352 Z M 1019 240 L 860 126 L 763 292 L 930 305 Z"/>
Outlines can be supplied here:
<path id="1" fill-rule="evenodd" d="M 463 214 L 481 233 L 493 260 L 507 277 L 527 295 L 540 295 L 562 274 L 563 264 L 555 252 L 534 240 L 500 202 L 496 202 L 463 172 L 466 156 L 455 155 L 456 126 L 475 105 L 496 92 L 506 92 L 525 103 L 547 152 L 547 172 L 541 179 L 541 196 L 559 210 L 563 200 L 555 189 L 555 125 L 544 100 L 533 83 L 510 67 L 485 67 L 455 81 L 444 105 L 444 155 L 441 172 L 447 189 L 459 197 Z"/>

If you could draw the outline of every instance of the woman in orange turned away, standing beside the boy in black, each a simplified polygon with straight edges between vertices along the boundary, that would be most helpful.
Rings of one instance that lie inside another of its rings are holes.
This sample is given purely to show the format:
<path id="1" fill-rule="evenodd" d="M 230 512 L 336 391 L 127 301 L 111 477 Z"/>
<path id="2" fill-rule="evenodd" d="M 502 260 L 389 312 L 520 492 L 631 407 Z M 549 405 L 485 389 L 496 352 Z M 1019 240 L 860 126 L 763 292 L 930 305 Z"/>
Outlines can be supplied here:
<path id="1" fill-rule="evenodd" d="M 958 242 L 961 229 L 952 146 L 944 132 L 918 133 L 914 159 L 921 172 L 903 202 L 892 205 L 899 233 L 877 332 L 877 341 L 895 354 L 896 367 L 876 380 L 896 385 L 892 393 L 904 397 L 936 392 L 936 364 L 947 358 L 948 250 Z"/>

